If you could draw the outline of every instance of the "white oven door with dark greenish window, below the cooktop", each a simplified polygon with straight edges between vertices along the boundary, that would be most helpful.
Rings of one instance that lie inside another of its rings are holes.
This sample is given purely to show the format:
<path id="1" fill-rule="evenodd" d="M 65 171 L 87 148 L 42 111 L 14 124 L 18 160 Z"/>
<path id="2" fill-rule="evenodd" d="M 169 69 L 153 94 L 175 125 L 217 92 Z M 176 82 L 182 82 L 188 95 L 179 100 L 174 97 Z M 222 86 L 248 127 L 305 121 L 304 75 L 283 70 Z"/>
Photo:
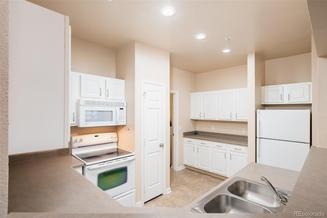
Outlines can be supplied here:
<path id="1" fill-rule="evenodd" d="M 135 156 L 85 168 L 84 176 L 111 197 L 135 188 Z"/>

